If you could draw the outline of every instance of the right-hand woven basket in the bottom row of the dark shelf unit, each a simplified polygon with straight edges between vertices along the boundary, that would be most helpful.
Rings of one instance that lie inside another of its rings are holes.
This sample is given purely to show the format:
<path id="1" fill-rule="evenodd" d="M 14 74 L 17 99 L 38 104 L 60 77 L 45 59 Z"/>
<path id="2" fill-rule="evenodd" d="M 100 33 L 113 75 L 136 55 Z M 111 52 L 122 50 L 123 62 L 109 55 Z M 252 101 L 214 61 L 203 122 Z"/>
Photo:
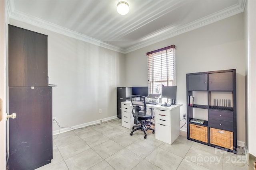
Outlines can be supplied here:
<path id="1" fill-rule="evenodd" d="M 210 128 L 210 144 L 233 150 L 233 132 Z"/>

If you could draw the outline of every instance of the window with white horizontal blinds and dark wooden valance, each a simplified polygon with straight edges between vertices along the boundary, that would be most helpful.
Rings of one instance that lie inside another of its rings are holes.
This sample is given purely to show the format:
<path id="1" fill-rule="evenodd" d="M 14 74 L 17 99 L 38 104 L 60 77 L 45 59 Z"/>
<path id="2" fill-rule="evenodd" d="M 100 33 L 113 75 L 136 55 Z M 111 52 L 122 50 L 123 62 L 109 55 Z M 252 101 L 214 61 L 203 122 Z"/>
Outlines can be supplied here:
<path id="1" fill-rule="evenodd" d="M 175 45 L 151 51 L 148 56 L 148 94 L 161 93 L 164 86 L 175 85 Z"/>

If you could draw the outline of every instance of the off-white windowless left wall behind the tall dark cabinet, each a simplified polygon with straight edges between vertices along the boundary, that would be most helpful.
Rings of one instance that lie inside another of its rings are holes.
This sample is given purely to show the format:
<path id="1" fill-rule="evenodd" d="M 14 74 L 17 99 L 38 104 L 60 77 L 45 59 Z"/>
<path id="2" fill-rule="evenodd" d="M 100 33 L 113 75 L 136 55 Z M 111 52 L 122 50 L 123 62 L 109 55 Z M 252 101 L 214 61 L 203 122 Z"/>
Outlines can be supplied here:
<path id="1" fill-rule="evenodd" d="M 49 83 L 57 85 L 52 115 L 62 127 L 116 116 L 116 87 L 125 82 L 124 54 L 17 20 L 10 24 L 48 35 Z"/>

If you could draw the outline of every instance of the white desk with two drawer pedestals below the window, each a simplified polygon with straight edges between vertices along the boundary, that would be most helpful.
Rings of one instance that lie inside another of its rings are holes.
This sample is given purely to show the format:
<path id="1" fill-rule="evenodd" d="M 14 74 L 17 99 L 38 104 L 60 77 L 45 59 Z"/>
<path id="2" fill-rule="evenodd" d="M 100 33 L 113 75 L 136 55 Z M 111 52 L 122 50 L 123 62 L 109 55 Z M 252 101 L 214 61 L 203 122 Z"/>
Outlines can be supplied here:
<path id="1" fill-rule="evenodd" d="M 155 139 L 172 144 L 180 135 L 180 106 L 161 106 L 161 104 L 146 104 L 155 111 Z M 122 126 L 131 129 L 134 125 L 132 102 L 122 102 Z"/>

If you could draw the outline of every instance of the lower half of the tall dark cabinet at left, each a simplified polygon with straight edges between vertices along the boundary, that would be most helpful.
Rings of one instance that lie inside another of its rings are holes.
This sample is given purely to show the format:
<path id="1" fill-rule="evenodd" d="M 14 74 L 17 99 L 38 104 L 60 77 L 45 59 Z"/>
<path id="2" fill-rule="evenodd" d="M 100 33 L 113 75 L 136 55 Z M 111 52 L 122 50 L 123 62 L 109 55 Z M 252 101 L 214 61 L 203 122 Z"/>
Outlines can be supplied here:
<path id="1" fill-rule="evenodd" d="M 30 170 L 52 159 L 52 89 L 9 88 L 10 170 Z"/>

